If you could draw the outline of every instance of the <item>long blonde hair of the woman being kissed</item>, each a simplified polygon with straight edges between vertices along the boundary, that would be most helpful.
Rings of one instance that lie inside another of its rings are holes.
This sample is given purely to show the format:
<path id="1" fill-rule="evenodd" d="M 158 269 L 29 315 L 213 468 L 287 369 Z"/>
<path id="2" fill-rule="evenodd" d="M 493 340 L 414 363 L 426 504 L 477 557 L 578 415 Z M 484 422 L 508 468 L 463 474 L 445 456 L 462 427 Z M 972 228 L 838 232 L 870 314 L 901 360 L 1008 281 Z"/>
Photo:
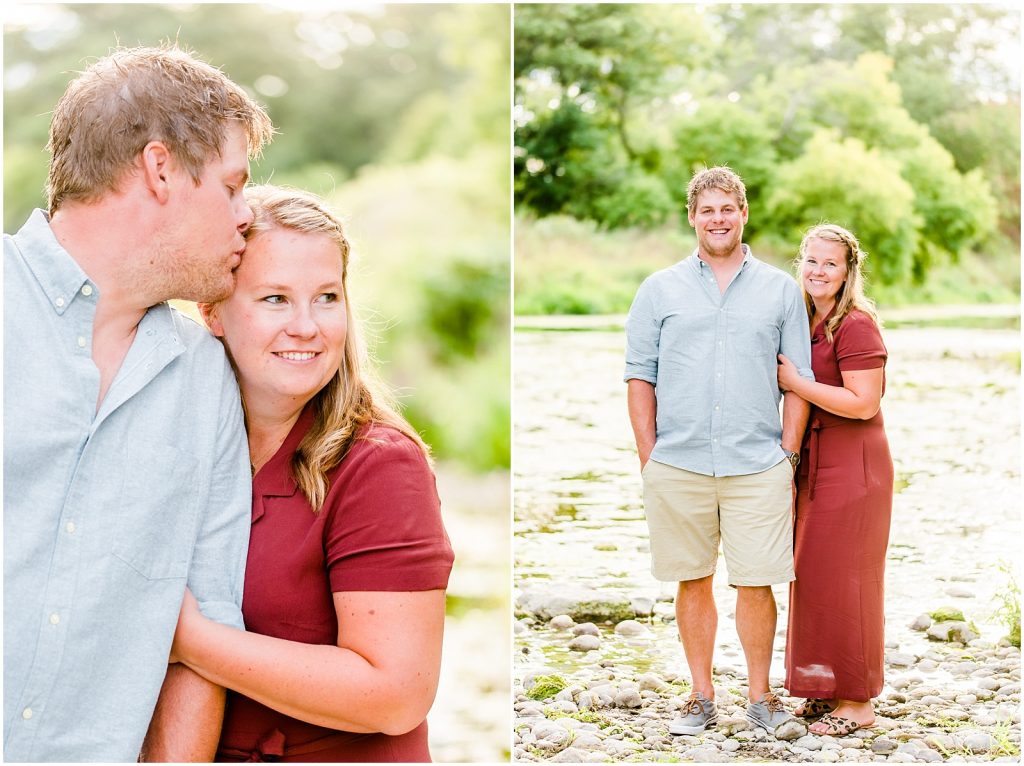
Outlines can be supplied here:
<path id="1" fill-rule="evenodd" d="M 326 235 L 341 253 L 341 289 L 348 332 L 341 366 L 312 398 L 313 425 L 292 456 L 292 474 L 313 513 L 324 506 L 329 488 L 328 472 L 348 454 L 367 423 L 390 426 L 412 439 L 429 460 L 430 450 L 409 421 L 398 413 L 387 386 L 376 375 L 374 360 L 362 343 L 359 326 L 348 300 L 350 247 L 341 221 L 321 198 L 308 192 L 283 186 L 246 188 L 246 201 L 255 219 L 247 237 L 251 240 L 274 227 L 302 233 Z"/>

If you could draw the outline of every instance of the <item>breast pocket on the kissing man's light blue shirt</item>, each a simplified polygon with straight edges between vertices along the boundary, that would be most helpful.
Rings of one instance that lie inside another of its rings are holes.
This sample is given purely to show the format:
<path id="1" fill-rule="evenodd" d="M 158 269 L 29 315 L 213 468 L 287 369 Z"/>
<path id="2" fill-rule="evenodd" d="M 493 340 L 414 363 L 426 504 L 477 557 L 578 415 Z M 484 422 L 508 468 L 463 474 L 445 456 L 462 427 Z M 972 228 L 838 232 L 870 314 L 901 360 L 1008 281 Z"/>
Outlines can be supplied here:
<path id="1" fill-rule="evenodd" d="M 114 555 L 147 580 L 184 580 L 196 540 L 198 461 L 172 444 L 129 448 Z"/>

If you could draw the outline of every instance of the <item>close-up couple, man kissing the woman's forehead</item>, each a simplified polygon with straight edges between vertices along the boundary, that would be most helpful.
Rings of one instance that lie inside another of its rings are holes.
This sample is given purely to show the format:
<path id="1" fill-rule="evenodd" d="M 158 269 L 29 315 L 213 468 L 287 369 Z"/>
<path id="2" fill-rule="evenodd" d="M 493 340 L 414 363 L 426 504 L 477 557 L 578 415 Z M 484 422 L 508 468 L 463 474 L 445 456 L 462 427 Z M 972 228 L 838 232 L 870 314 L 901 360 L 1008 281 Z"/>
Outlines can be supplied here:
<path id="1" fill-rule="evenodd" d="M 6 760 L 429 760 L 429 455 L 338 218 L 246 187 L 272 132 L 172 47 L 53 113 L 49 210 L 4 237 Z"/>

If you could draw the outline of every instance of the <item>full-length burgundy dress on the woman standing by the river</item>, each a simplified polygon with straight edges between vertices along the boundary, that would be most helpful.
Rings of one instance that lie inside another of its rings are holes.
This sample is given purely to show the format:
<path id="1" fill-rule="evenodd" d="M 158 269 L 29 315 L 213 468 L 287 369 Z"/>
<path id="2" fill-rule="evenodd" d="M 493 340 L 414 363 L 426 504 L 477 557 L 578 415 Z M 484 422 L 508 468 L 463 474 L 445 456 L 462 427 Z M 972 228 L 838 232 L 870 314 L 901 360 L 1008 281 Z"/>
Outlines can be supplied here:
<path id="1" fill-rule="evenodd" d="M 887 355 L 861 311 L 847 314 L 831 343 L 824 322 L 811 337 L 814 377 L 830 386 L 843 385 L 843 371 L 884 368 Z M 797 490 L 785 687 L 865 701 L 882 691 L 885 654 L 893 462 L 882 412 L 853 420 L 812 406 Z"/>

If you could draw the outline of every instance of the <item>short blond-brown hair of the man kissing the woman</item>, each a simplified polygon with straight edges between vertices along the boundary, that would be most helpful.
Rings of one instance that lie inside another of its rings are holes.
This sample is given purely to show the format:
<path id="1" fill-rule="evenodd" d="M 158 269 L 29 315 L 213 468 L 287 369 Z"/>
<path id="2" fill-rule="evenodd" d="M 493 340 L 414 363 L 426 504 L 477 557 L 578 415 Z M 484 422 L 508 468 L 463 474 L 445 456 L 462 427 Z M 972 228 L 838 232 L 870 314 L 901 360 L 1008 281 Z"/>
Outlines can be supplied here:
<path id="1" fill-rule="evenodd" d="M 65 202 L 95 202 L 117 190 L 150 141 L 163 141 L 198 182 L 234 124 L 254 158 L 273 135 L 262 107 L 187 51 L 117 49 L 80 73 L 53 111 L 50 213 Z"/>

